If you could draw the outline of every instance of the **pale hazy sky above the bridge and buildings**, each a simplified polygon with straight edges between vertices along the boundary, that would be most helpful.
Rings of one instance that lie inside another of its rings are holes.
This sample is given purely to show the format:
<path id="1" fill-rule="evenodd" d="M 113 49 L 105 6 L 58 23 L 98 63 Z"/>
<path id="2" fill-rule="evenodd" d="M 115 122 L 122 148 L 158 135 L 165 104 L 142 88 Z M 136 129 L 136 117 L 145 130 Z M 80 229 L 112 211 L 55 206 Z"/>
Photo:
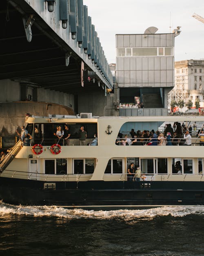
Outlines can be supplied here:
<path id="1" fill-rule="evenodd" d="M 175 37 L 175 61 L 204 59 L 204 0 L 83 0 L 108 63 L 115 63 L 115 34 L 143 34 L 148 27 Z"/>

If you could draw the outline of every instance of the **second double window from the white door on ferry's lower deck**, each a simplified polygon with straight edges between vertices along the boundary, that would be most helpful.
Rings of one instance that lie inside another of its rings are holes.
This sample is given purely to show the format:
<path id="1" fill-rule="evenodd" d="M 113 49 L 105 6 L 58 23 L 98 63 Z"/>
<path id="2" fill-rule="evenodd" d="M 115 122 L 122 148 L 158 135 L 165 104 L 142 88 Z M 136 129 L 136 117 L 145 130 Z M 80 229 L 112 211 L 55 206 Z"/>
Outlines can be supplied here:
<path id="1" fill-rule="evenodd" d="M 92 174 L 95 168 L 95 159 L 74 159 L 74 174 Z"/>

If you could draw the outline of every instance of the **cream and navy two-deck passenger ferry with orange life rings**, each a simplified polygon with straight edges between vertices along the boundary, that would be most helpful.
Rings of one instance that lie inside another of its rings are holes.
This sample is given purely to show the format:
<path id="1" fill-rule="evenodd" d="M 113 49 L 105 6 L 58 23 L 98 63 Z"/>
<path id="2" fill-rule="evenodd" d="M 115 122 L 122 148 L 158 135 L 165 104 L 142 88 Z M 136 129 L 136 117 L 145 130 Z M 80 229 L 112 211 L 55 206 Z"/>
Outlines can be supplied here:
<path id="1" fill-rule="evenodd" d="M 131 128 L 163 132 L 165 124 L 174 122 L 186 127 L 196 122 L 202 129 L 204 117 L 29 116 L 25 127 L 32 138 L 19 140 L 0 163 L 0 199 L 69 208 L 203 204 L 204 153 L 197 130 L 192 131 L 191 146 L 183 146 L 182 140 L 171 146 L 148 145 L 147 139 L 142 145 L 120 145 L 118 134 L 130 137 Z M 65 125 L 71 134 L 69 145 L 55 136 L 57 127 Z M 80 127 L 87 133 L 85 145 L 80 145 Z M 94 134 L 98 143 L 91 146 Z M 140 166 L 144 180 L 129 179 L 131 163 Z"/>

